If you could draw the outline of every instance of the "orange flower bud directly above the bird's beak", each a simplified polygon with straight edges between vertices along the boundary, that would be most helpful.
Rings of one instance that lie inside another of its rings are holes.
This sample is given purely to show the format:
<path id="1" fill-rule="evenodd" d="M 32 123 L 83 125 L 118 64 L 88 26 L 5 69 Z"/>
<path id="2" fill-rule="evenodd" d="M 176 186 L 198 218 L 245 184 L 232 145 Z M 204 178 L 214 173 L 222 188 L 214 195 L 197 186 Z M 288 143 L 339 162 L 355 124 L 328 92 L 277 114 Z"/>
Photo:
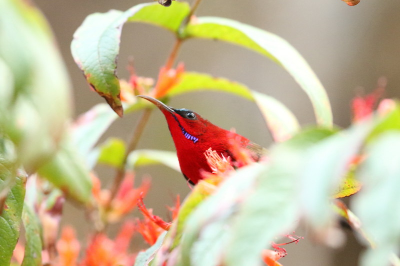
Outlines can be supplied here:
<path id="1" fill-rule="evenodd" d="M 165 67 L 161 67 L 159 74 L 158 74 L 158 80 L 157 83 L 155 84 L 154 91 L 153 91 L 153 97 L 156 99 L 162 98 L 165 96 L 166 93 L 180 81 L 180 78 L 182 77 L 184 73 L 184 64 L 179 63 L 176 67 L 176 69 L 166 69 Z"/>

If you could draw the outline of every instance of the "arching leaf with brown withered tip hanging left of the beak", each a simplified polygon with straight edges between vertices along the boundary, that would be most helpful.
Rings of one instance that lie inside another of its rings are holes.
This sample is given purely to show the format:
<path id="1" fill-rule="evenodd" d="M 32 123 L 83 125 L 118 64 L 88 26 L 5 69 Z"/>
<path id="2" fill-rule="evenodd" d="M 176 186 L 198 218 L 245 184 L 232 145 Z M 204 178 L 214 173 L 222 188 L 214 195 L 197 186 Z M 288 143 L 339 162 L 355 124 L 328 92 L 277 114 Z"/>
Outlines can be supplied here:
<path id="1" fill-rule="evenodd" d="M 124 12 L 93 13 L 73 34 L 71 52 L 76 64 L 83 70 L 87 82 L 119 116 L 123 109 L 115 71 L 123 24 L 127 20 L 145 22 L 176 32 L 188 12 L 187 3 L 175 3 L 169 8 L 157 3 L 142 3 Z"/>

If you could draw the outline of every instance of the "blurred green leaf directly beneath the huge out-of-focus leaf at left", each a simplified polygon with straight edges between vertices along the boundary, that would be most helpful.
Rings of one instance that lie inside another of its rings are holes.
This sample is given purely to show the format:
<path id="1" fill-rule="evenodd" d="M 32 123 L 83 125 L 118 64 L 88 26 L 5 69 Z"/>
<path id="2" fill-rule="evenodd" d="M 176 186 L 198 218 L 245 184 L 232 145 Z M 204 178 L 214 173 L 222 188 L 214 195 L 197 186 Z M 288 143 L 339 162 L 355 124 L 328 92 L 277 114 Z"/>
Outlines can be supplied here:
<path id="1" fill-rule="evenodd" d="M 65 139 L 55 156 L 40 167 L 38 173 L 72 199 L 82 203 L 90 200 L 89 171 L 70 141 Z"/>

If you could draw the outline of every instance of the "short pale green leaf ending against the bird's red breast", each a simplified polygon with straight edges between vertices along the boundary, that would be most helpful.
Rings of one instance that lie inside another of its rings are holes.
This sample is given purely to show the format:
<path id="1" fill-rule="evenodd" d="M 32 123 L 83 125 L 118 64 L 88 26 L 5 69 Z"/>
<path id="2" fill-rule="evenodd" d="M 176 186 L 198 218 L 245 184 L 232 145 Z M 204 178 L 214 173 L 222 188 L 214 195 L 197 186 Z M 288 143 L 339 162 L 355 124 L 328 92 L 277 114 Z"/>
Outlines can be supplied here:
<path id="1" fill-rule="evenodd" d="M 159 150 L 135 150 L 127 159 L 128 168 L 136 168 L 153 164 L 163 164 L 180 172 L 179 162 L 175 152 Z"/>

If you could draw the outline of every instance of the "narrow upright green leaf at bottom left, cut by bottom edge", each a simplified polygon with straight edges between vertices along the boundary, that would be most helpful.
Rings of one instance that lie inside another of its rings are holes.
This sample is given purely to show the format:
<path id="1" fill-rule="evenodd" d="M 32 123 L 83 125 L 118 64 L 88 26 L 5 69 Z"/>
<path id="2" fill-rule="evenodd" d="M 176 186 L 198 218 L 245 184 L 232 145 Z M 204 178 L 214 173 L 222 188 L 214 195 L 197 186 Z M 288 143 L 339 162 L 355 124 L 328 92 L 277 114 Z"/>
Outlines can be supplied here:
<path id="1" fill-rule="evenodd" d="M 38 217 L 28 205 L 23 205 L 22 222 L 25 227 L 25 254 L 21 266 L 41 266 L 41 226 Z"/>

